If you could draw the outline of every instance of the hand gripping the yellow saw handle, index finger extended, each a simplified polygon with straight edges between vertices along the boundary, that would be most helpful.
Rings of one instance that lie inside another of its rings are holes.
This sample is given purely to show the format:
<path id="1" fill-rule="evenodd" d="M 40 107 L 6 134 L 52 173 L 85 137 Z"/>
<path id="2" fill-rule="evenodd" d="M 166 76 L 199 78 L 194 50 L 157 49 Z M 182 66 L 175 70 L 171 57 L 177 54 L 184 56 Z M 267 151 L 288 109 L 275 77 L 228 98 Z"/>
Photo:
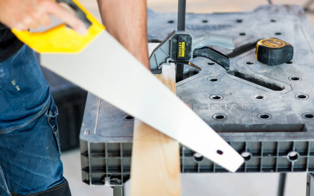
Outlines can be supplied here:
<path id="1" fill-rule="evenodd" d="M 0 22 L 9 28 L 27 30 L 40 25 L 49 26 L 49 15 L 53 15 L 78 33 L 86 32 L 81 20 L 52 0 L 0 0 L 0 10 Z"/>

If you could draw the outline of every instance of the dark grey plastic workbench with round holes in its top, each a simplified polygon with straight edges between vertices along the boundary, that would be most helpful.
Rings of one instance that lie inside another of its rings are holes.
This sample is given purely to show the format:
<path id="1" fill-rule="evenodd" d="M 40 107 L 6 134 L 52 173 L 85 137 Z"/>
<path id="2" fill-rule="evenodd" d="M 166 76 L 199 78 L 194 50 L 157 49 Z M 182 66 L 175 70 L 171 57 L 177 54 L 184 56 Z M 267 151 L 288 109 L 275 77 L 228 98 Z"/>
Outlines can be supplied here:
<path id="1" fill-rule="evenodd" d="M 149 41 L 162 41 L 176 20 L 177 13 L 149 11 Z M 184 66 L 177 96 L 244 157 L 237 172 L 307 172 L 307 196 L 314 196 L 314 31 L 303 8 L 265 5 L 245 13 L 188 13 L 186 28 L 194 35 L 232 36 L 235 49 L 213 47 L 230 57 L 229 71 L 203 57 L 192 60 L 202 71 Z M 294 47 L 292 61 L 269 66 L 256 60 L 256 42 L 271 37 Z M 115 196 L 123 195 L 132 132 L 130 115 L 88 95 L 80 132 L 85 183 L 112 186 Z M 180 156 L 183 173 L 227 172 L 183 145 Z"/>

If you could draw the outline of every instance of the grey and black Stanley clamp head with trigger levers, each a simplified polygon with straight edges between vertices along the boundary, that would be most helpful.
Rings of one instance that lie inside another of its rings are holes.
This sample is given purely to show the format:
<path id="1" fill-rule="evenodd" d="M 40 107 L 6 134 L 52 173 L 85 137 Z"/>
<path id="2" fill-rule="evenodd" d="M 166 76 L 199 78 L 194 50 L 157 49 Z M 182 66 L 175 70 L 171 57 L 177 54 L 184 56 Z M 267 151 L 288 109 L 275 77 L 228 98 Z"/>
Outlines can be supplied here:
<path id="1" fill-rule="evenodd" d="M 206 33 L 194 36 L 188 29 L 172 31 L 152 52 L 150 66 L 152 73 L 161 73 L 162 65 L 170 63 L 188 64 L 196 56 L 203 56 L 229 70 L 229 58 L 222 53 L 204 48 L 217 45 L 227 49 L 234 49 L 231 37 Z"/>

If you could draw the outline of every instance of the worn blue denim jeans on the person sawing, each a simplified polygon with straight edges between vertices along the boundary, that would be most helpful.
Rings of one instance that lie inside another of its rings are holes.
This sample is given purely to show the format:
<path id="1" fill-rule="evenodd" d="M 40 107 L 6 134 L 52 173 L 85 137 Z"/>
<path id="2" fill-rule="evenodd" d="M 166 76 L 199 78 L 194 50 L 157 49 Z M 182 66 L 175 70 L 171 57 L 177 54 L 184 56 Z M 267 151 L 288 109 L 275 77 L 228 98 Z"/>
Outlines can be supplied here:
<path id="1" fill-rule="evenodd" d="M 57 114 L 32 49 L 0 63 L 0 196 L 64 183 Z"/>

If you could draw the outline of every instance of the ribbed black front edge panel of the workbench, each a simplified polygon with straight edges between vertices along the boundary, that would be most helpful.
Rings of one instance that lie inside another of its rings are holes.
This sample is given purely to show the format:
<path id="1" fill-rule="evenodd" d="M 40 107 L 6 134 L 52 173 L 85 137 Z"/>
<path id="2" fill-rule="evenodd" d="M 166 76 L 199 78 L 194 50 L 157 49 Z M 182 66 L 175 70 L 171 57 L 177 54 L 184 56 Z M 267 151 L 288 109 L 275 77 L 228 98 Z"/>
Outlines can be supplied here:
<path id="1" fill-rule="evenodd" d="M 245 158 L 236 172 L 314 172 L 314 142 L 231 142 Z M 120 186 L 130 179 L 132 143 L 81 141 L 83 181 Z M 86 150 L 86 151 L 84 151 Z M 228 172 L 180 145 L 182 173 Z"/>

